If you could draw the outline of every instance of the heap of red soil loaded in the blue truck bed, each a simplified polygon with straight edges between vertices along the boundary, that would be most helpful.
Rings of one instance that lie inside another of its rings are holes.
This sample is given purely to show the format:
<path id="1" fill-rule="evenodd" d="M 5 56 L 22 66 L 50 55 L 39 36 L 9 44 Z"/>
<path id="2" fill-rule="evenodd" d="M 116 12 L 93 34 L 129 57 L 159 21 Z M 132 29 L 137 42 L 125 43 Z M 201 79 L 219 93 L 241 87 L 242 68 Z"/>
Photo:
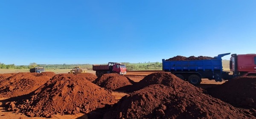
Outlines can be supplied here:
<path id="1" fill-rule="evenodd" d="M 184 57 L 184 56 L 180 56 L 177 55 L 175 57 L 166 59 L 166 61 L 183 61 L 183 60 L 201 60 L 201 59 L 213 59 L 213 57 L 206 57 L 206 56 L 190 56 L 190 57 Z"/>

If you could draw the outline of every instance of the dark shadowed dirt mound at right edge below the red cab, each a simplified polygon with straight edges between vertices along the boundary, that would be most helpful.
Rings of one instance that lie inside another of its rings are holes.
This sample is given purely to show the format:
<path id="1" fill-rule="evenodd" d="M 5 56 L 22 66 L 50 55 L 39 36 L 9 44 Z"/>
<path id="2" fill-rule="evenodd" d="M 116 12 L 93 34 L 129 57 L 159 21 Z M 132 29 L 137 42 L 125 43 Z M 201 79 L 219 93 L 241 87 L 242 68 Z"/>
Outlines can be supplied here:
<path id="1" fill-rule="evenodd" d="M 240 108 L 256 109 L 256 77 L 237 77 L 209 88 L 210 95 Z"/>

